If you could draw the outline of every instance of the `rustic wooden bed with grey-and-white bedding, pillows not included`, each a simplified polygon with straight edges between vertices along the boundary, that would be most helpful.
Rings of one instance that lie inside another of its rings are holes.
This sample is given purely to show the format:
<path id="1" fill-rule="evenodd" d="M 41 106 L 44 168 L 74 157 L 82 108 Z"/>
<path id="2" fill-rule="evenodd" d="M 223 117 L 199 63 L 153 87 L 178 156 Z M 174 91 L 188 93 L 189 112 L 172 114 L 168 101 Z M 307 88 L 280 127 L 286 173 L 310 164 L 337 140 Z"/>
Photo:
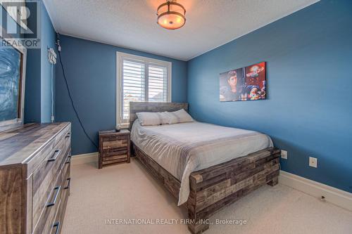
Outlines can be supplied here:
<path id="1" fill-rule="evenodd" d="M 191 233 L 209 228 L 209 217 L 279 176 L 280 150 L 256 131 L 188 122 L 141 126 L 137 112 L 184 109 L 187 103 L 130 103 L 132 152 L 188 209 Z"/>

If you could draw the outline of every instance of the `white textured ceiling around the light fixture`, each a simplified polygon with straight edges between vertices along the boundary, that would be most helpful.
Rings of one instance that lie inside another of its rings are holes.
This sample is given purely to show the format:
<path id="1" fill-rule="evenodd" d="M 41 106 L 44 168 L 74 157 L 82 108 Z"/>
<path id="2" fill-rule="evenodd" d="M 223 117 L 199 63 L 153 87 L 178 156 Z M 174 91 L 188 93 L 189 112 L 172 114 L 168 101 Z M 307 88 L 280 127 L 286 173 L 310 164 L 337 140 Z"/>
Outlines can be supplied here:
<path id="1" fill-rule="evenodd" d="M 317 0 L 177 0 L 186 25 L 165 30 L 156 8 L 165 0 L 44 0 L 61 34 L 189 60 Z"/>

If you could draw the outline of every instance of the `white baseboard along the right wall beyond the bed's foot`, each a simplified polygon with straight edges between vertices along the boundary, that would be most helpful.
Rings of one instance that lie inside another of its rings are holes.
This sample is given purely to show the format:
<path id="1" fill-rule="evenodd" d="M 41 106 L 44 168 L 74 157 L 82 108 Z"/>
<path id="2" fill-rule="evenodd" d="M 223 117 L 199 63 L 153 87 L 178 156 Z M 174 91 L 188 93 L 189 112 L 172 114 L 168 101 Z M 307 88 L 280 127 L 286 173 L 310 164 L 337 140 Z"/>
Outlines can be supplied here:
<path id="1" fill-rule="evenodd" d="M 286 171 L 280 171 L 279 183 L 319 199 L 324 196 L 327 202 L 352 211 L 352 193 Z"/>

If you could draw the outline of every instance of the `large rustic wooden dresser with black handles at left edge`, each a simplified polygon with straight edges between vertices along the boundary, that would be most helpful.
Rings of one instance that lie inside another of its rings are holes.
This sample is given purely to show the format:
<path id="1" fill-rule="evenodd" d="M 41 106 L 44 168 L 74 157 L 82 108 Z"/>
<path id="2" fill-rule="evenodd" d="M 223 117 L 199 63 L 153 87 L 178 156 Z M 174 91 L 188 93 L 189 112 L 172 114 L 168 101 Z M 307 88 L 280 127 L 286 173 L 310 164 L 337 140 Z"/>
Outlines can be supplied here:
<path id="1" fill-rule="evenodd" d="M 70 194 L 69 122 L 0 133 L 0 233 L 60 233 Z"/>

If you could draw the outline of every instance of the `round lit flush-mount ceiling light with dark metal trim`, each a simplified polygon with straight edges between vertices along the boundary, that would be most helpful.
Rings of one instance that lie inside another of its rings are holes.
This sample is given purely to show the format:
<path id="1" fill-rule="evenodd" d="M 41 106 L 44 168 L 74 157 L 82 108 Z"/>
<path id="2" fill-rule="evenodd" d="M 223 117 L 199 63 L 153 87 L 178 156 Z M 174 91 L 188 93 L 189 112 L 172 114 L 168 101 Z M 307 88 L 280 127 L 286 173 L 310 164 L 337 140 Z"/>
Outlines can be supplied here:
<path id="1" fill-rule="evenodd" d="M 167 1 L 161 4 L 156 11 L 158 25 L 167 30 L 177 30 L 186 22 L 186 9 L 175 1 Z"/>

